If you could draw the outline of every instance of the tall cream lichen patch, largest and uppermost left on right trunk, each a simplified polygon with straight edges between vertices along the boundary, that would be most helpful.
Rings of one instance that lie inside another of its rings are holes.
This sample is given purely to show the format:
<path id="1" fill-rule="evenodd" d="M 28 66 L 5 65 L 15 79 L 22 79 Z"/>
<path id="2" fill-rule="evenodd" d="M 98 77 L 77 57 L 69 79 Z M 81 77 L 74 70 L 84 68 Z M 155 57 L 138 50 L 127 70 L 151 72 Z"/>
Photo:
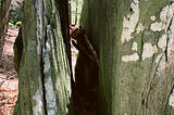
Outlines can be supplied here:
<path id="1" fill-rule="evenodd" d="M 134 0 L 132 2 L 130 8 L 133 9 L 133 14 L 127 14 L 127 18 L 123 20 L 123 30 L 122 30 L 122 43 L 125 41 L 129 41 L 132 37 L 132 33 L 135 31 L 135 27 L 139 20 L 139 1 Z"/>

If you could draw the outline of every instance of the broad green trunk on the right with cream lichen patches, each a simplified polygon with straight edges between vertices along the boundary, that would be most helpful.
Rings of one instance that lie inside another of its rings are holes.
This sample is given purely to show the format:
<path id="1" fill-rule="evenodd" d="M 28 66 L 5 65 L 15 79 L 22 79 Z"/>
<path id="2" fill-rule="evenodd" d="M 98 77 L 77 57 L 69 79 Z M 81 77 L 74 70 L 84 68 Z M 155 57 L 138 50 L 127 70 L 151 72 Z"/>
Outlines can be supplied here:
<path id="1" fill-rule="evenodd" d="M 173 17 L 171 0 L 85 0 L 80 23 L 100 59 L 100 115 L 174 114 Z"/>

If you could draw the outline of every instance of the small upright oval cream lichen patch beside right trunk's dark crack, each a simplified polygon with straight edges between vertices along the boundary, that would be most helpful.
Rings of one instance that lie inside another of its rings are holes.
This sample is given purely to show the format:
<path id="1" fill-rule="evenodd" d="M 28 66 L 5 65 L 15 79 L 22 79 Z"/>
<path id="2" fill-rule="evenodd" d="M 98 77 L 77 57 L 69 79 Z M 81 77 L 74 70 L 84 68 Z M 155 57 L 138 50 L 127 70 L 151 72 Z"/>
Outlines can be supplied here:
<path id="1" fill-rule="evenodd" d="M 165 48 L 166 48 L 166 39 L 167 39 L 167 35 L 164 34 L 164 35 L 162 35 L 162 37 L 159 39 L 159 42 L 158 42 L 158 47 L 159 47 L 160 49 L 162 49 L 163 52 L 164 52 L 164 50 L 165 50 Z"/>

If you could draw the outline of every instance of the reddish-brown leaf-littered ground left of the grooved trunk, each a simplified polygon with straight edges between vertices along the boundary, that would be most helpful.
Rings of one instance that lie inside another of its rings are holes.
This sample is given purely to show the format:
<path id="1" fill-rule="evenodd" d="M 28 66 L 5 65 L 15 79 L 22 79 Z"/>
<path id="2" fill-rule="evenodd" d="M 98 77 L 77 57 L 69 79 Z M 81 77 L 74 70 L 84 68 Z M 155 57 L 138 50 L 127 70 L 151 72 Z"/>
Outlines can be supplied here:
<path id="1" fill-rule="evenodd" d="M 12 115 L 18 94 L 18 79 L 13 65 L 13 43 L 18 28 L 8 29 L 0 59 L 0 115 Z"/>

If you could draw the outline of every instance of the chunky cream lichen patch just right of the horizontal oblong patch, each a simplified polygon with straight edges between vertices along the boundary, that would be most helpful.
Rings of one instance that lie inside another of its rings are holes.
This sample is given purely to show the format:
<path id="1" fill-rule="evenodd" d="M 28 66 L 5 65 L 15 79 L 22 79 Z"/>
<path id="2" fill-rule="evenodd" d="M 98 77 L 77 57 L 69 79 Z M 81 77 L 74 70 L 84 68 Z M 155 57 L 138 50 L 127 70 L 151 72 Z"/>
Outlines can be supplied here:
<path id="1" fill-rule="evenodd" d="M 142 61 L 146 58 L 151 58 L 156 52 L 158 52 L 157 46 L 152 47 L 151 43 L 145 43 L 142 50 Z"/>

